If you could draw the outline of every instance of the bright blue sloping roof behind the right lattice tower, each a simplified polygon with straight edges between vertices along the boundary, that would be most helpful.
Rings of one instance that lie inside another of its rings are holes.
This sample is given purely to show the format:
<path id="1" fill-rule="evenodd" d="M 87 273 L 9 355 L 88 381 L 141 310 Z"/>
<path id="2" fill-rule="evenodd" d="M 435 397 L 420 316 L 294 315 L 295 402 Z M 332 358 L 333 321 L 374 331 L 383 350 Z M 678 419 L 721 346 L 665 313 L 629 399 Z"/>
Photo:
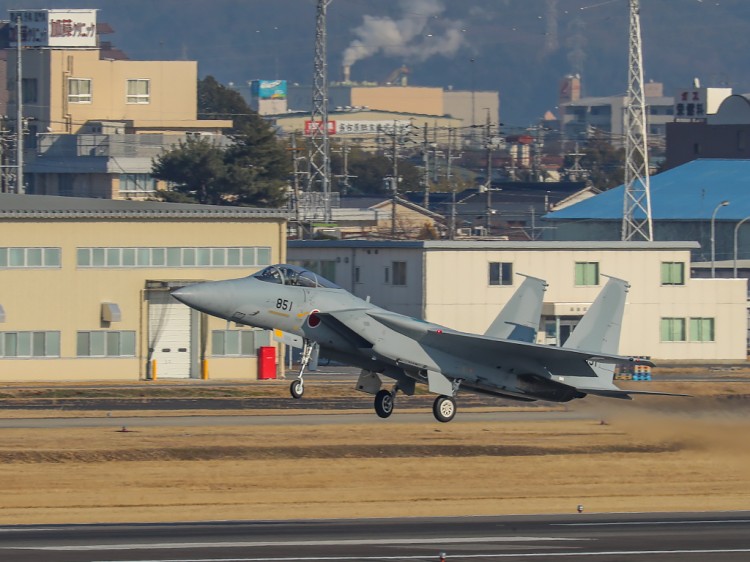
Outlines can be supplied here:
<path id="1" fill-rule="evenodd" d="M 653 220 L 710 220 L 722 201 L 729 205 L 716 213 L 717 221 L 750 216 L 750 160 L 693 160 L 651 176 L 650 184 Z M 623 192 L 621 185 L 544 218 L 622 220 Z"/>

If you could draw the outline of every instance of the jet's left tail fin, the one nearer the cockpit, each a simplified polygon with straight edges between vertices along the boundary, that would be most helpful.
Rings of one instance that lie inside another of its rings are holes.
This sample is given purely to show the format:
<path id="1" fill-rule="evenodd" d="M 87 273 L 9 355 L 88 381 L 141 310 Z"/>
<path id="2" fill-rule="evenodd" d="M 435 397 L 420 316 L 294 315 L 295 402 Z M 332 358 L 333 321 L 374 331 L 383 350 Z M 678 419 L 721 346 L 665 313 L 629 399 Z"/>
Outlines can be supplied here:
<path id="1" fill-rule="evenodd" d="M 523 283 L 487 328 L 485 336 L 527 343 L 536 340 L 547 282 L 529 275 L 519 275 L 525 277 Z"/>

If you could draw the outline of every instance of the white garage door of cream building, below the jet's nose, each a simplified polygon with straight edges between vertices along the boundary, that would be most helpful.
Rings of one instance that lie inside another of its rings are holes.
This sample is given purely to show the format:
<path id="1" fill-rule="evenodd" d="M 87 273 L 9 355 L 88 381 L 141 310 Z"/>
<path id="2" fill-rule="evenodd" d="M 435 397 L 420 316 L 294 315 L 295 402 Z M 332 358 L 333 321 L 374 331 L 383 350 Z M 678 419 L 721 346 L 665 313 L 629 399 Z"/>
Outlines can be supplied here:
<path id="1" fill-rule="evenodd" d="M 168 291 L 149 293 L 148 338 L 158 378 L 190 377 L 191 310 Z"/>

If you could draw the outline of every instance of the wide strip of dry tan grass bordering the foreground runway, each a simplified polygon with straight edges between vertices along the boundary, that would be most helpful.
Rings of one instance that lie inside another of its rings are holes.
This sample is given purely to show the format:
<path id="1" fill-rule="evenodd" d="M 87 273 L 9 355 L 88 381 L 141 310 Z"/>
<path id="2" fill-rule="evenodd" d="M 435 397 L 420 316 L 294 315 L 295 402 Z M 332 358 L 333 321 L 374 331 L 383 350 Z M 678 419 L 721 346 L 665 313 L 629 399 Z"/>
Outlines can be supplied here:
<path id="1" fill-rule="evenodd" d="M 748 383 L 720 384 L 588 421 L 4 429 L 0 524 L 748 509 Z"/>

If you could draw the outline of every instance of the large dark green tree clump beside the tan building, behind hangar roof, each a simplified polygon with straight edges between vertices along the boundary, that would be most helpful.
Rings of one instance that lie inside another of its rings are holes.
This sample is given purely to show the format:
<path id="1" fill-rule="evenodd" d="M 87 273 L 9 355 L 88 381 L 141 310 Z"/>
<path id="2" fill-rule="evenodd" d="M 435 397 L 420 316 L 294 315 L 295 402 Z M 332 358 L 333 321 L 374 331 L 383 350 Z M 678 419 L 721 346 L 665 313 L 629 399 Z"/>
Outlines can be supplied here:
<path id="1" fill-rule="evenodd" d="M 188 138 L 156 157 L 152 175 L 172 184 L 168 201 L 279 207 L 286 198 L 289 161 L 270 125 L 235 90 L 212 76 L 198 82 L 198 114 L 232 119 L 230 143 Z"/>

